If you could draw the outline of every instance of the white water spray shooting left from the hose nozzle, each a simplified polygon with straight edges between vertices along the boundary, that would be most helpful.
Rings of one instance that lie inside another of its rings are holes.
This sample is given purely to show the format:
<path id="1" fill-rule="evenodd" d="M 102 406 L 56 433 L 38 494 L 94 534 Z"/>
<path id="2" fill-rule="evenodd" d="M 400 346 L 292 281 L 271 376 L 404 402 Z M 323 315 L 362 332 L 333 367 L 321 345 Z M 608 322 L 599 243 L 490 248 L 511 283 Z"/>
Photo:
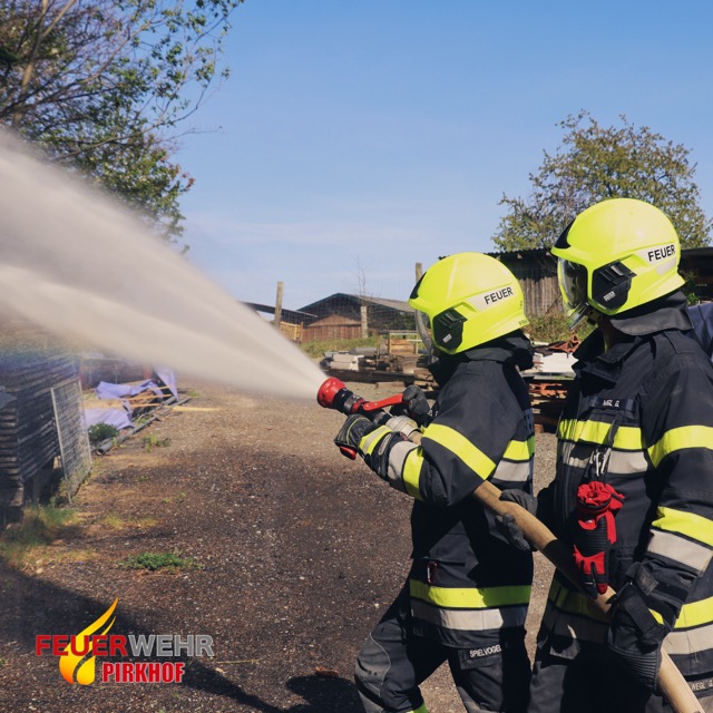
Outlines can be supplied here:
<path id="1" fill-rule="evenodd" d="M 0 131 L 0 313 L 251 393 L 314 399 L 324 374 L 138 218 Z"/>

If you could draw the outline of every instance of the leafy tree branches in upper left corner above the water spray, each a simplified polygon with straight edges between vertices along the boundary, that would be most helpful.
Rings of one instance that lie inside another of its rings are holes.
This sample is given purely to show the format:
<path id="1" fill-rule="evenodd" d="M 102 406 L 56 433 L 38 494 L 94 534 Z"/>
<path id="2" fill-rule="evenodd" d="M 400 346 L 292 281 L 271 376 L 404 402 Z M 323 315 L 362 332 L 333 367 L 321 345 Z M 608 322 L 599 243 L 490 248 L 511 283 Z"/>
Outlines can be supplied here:
<path id="1" fill-rule="evenodd" d="M 176 125 L 227 70 L 216 66 L 242 0 L 0 3 L 0 123 L 180 233 L 191 178 Z"/>

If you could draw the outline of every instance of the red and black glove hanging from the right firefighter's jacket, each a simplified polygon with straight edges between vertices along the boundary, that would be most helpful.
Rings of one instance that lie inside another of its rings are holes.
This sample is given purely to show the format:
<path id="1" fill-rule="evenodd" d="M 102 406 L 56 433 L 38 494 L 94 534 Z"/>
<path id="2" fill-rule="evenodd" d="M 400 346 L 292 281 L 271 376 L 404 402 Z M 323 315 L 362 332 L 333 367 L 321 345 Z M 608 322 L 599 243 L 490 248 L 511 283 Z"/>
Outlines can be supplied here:
<path id="1" fill-rule="evenodd" d="M 616 543 L 614 516 L 622 509 L 624 496 L 600 480 L 577 488 L 577 521 L 574 528 L 574 556 L 584 590 L 596 599 L 609 583 L 609 554 Z"/>

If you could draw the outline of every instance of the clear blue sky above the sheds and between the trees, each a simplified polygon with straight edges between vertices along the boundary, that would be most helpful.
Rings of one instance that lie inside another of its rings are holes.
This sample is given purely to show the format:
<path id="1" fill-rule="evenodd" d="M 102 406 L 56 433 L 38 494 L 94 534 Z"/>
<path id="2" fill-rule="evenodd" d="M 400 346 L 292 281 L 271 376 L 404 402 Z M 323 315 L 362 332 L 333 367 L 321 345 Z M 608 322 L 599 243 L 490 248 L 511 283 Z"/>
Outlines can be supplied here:
<path id="1" fill-rule="evenodd" d="M 713 7 L 676 6 L 246 0 L 177 154 L 191 262 L 245 301 L 282 281 L 290 309 L 407 299 L 417 262 L 494 250 L 580 109 L 686 146 L 712 215 Z"/>

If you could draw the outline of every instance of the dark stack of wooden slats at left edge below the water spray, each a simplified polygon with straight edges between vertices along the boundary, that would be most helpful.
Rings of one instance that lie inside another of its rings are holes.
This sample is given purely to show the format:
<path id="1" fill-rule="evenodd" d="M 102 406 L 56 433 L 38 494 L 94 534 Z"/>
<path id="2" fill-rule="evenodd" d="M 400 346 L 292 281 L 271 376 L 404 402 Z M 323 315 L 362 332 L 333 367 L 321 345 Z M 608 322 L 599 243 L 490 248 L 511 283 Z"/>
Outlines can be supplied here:
<path id="1" fill-rule="evenodd" d="M 0 325 L 0 525 L 53 475 L 71 497 L 91 468 L 77 360 L 27 325 Z"/>

